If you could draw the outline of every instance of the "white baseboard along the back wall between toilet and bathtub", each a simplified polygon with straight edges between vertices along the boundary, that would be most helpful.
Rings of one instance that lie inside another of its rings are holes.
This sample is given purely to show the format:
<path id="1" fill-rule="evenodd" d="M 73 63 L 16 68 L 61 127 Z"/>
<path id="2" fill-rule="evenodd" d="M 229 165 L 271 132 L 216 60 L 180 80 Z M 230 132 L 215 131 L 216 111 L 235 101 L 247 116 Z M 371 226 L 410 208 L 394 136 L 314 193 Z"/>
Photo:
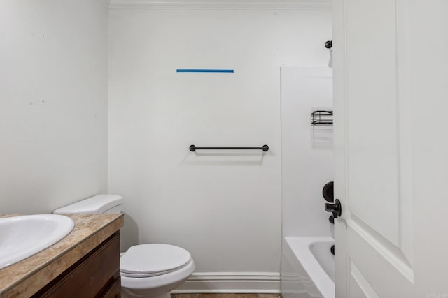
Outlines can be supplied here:
<path id="1" fill-rule="evenodd" d="M 197 272 L 172 293 L 279 293 L 278 272 Z"/>

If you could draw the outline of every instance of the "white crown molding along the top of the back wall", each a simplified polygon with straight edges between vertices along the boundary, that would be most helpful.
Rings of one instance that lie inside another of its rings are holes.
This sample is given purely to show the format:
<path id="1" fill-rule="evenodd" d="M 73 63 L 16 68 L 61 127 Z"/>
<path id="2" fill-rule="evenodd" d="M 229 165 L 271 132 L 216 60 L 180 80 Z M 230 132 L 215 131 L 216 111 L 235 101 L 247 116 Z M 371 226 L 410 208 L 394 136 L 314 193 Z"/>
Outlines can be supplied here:
<path id="1" fill-rule="evenodd" d="M 331 10 L 330 0 L 111 0 L 111 10 Z"/>

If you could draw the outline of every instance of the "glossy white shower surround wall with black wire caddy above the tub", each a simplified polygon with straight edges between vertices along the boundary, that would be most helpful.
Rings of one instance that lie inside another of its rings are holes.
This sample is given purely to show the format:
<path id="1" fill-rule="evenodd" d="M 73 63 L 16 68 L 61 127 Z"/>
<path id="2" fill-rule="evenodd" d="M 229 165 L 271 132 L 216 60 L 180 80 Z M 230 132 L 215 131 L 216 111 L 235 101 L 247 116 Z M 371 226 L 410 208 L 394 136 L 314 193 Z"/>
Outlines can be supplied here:
<path id="1" fill-rule="evenodd" d="M 333 131 L 311 126 L 320 109 L 332 110 L 332 68 L 281 68 L 283 237 L 330 236 L 322 188 L 333 181 Z"/>

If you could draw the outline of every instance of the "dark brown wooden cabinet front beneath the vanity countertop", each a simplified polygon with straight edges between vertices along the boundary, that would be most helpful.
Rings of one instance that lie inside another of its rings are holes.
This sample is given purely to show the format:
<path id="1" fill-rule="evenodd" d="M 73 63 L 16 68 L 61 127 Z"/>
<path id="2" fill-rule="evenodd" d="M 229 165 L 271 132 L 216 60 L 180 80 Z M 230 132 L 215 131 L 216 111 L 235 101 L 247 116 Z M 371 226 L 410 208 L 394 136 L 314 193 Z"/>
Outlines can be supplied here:
<path id="1" fill-rule="evenodd" d="M 120 290 L 120 232 L 116 232 L 33 297 L 119 298 Z"/>

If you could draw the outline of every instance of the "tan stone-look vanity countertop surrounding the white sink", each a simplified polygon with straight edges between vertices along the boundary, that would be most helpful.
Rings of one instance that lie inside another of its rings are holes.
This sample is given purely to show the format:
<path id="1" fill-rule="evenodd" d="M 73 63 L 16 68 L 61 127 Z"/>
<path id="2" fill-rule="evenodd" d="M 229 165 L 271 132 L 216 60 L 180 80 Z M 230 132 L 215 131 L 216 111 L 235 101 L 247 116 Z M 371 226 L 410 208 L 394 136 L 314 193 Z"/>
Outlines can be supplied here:
<path id="1" fill-rule="evenodd" d="M 18 216 L 3 214 L 0 218 Z M 123 214 L 63 214 L 75 228 L 56 244 L 0 269 L 0 297 L 30 297 L 123 227 Z"/>

